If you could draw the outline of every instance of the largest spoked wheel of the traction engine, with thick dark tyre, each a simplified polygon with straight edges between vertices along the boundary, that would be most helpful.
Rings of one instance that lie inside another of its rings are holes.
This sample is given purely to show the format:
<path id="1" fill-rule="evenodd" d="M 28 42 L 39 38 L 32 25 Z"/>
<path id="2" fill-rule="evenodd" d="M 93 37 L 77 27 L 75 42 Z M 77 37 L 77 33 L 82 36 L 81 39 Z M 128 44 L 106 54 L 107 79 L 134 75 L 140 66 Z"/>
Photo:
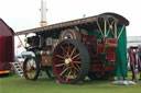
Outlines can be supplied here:
<path id="1" fill-rule="evenodd" d="M 75 84 L 83 80 L 89 70 L 87 48 L 76 39 L 61 42 L 53 54 L 53 71 L 57 80 L 66 84 Z"/>

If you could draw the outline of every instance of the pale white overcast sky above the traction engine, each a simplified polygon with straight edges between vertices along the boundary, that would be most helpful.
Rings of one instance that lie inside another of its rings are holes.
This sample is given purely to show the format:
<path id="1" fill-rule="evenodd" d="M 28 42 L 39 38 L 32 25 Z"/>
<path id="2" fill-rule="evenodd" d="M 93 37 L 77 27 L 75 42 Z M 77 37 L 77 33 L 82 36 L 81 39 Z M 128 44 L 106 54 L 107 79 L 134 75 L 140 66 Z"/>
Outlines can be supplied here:
<path id="1" fill-rule="evenodd" d="M 46 0 L 48 24 L 115 12 L 130 21 L 128 36 L 141 36 L 140 0 Z M 0 18 L 14 32 L 40 26 L 41 0 L 0 0 Z"/>

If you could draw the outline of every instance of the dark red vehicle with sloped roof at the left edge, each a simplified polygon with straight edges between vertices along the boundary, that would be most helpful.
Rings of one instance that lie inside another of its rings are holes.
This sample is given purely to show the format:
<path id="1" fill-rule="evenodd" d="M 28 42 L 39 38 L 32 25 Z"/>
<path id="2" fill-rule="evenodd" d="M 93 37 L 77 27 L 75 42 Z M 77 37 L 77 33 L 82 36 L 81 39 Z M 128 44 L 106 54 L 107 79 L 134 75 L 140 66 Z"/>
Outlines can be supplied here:
<path id="1" fill-rule="evenodd" d="M 14 61 L 14 33 L 0 19 L 0 74 L 10 73 L 10 62 Z"/>

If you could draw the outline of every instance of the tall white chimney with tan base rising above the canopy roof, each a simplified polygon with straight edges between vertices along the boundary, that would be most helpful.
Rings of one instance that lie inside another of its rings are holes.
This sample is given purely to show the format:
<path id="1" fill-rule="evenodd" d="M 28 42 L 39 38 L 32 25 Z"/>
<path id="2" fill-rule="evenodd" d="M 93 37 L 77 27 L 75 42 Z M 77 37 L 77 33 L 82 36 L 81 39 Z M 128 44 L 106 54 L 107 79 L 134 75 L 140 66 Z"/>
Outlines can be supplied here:
<path id="1" fill-rule="evenodd" d="M 41 0 L 41 26 L 46 26 L 46 0 Z"/>

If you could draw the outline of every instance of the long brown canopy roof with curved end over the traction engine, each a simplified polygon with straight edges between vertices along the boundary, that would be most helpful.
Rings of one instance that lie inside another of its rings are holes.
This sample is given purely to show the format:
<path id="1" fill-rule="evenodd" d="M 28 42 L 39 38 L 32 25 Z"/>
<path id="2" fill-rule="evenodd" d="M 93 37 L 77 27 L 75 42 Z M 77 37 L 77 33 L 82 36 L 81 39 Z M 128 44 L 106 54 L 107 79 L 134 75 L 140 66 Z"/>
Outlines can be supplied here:
<path id="1" fill-rule="evenodd" d="M 66 26 L 88 24 L 88 23 L 97 22 L 97 20 L 99 18 L 102 18 L 102 19 L 106 19 L 106 20 L 113 19 L 118 24 L 121 24 L 121 25 L 124 25 L 124 26 L 129 25 L 129 21 L 126 18 L 123 18 L 123 16 L 117 14 L 117 13 L 107 12 L 107 13 L 102 13 L 102 14 L 90 16 L 90 18 L 78 19 L 78 20 L 74 20 L 74 21 L 67 21 L 67 22 L 63 22 L 63 23 L 47 25 L 47 26 L 44 26 L 44 27 L 36 27 L 36 28 L 32 28 L 32 30 L 21 31 L 21 32 L 17 32 L 14 35 L 24 35 L 24 34 L 29 34 L 29 33 L 51 31 L 51 30 L 54 30 L 54 28 L 61 28 L 61 27 L 66 27 Z"/>

